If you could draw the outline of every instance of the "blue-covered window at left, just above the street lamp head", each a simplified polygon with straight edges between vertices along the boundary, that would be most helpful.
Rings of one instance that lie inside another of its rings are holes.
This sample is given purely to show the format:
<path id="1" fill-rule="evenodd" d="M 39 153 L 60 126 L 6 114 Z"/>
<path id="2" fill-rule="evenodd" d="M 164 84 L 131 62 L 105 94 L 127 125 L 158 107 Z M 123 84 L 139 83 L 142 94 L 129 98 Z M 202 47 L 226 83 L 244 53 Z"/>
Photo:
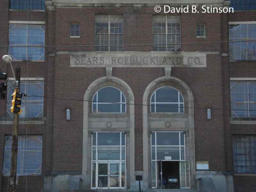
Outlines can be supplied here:
<path id="1" fill-rule="evenodd" d="M 44 61 L 44 25 L 9 25 L 9 54 L 14 60 Z"/>

